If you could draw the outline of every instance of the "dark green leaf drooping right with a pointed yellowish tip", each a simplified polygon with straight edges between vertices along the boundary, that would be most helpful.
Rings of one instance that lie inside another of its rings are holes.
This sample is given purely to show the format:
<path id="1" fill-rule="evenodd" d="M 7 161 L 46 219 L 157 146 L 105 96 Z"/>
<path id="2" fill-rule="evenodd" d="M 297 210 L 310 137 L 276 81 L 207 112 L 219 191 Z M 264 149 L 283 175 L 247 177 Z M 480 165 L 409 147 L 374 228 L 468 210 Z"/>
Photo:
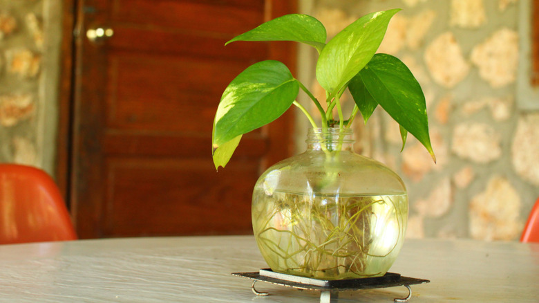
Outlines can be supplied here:
<path id="1" fill-rule="evenodd" d="M 419 140 L 436 162 L 428 135 L 425 96 L 408 67 L 387 54 L 377 54 L 359 73 L 372 98 Z"/>

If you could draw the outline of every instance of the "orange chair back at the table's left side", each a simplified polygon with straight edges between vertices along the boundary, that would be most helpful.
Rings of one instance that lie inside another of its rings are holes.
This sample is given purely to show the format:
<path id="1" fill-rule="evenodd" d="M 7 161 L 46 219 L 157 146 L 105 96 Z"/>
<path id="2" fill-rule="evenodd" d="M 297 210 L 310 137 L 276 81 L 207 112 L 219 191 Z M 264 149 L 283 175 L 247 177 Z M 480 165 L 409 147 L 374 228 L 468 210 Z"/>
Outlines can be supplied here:
<path id="1" fill-rule="evenodd" d="M 0 164 L 0 244 L 75 239 L 52 178 L 35 167 Z"/>

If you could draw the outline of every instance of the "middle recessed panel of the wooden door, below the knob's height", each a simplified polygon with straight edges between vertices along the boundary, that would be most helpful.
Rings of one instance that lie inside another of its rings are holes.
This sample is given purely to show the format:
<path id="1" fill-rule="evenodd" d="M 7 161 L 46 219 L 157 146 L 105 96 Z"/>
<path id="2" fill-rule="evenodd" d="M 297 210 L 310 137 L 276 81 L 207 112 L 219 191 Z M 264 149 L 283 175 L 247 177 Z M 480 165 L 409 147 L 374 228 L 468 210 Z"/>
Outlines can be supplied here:
<path id="1" fill-rule="evenodd" d="M 213 118 L 216 99 L 243 70 L 218 59 L 116 54 L 109 68 L 108 127 L 203 133 L 211 122 L 196 120 Z"/>

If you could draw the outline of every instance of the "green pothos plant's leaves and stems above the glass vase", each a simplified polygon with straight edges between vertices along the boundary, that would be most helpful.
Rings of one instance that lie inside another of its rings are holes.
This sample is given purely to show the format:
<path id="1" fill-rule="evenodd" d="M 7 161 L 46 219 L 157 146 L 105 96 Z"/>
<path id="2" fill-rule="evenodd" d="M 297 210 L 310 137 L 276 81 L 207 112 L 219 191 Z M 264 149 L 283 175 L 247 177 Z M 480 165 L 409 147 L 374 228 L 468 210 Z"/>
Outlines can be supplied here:
<path id="1" fill-rule="evenodd" d="M 397 57 L 376 53 L 390 19 L 399 10 L 365 15 L 327 44 L 323 24 L 314 17 L 301 14 L 284 15 L 267 21 L 227 42 L 292 41 L 314 47 L 319 54 L 316 80 L 325 89 L 325 100 L 317 100 L 282 62 L 267 60 L 247 67 L 227 86 L 216 112 L 212 136 L 216 169 L 225 167 L 243 134 L 276 120 L 292 104 L 301 109 L 312 127 L 322 129 L 337 126 L 347 129 L 358 112 L 366 123 L 380 105 L 399 123 L 402 147 L 409 132 L 435 160 L 421 86 Z M 340 98 L 347 88 L 355 104 L 350 117 L 345 118 Z M 320 111 L 320 126 L 316 125 L 307 109 L 296 101 L 299 89 L 309 96 Z M 321 102 L 325 102 L 325 110 Z M 333 116 L 335 107 L 337 119 Z"/>

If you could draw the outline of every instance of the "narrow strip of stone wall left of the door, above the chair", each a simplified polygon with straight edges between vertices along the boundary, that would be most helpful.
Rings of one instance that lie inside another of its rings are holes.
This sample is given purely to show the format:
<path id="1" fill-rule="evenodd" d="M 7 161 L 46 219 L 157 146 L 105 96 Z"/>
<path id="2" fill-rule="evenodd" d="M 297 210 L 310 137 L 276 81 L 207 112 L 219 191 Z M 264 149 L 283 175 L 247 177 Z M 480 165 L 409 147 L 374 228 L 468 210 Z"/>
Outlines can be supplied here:
<path id="1" fill-rule="evenodd" d="M 53 172 L 59 0 L 0 0 L 0 162 Z"/>

